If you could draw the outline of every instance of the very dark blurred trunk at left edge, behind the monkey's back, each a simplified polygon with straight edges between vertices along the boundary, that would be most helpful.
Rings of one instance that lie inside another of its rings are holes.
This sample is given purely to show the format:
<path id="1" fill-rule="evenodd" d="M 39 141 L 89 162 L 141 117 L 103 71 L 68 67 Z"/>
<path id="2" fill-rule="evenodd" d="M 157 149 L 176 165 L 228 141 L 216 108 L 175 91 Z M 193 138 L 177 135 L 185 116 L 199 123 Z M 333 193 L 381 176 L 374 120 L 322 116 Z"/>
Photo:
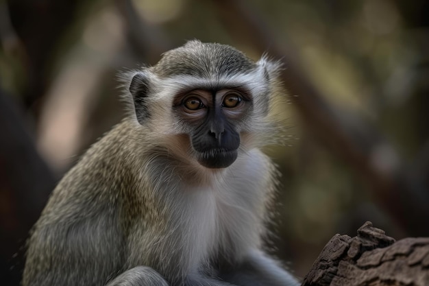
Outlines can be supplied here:
<path id="1" fill-rule="evenodd" d="M 11 98 L 0 90 L 0 281 L 5 286 L 20 285 L 25 239 L 56 182 Z"/>

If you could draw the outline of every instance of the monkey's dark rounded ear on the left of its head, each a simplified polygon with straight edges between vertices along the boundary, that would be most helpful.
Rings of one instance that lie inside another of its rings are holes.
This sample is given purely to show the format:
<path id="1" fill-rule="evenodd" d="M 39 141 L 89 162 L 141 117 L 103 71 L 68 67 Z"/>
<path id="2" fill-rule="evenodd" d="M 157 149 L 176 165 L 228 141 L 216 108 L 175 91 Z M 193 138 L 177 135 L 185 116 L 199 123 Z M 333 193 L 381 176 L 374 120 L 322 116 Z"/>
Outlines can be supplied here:
<path id="1" fill-rule="evenodd" d="M 150 110 L 147 105 L 147 95 L 149 95 L 149 78 L 145 73 L 136 73 L 130 83 L 130 93 L 134 100 L 134 108 L 137 120 L 143 125 L 150 117 Z"/>

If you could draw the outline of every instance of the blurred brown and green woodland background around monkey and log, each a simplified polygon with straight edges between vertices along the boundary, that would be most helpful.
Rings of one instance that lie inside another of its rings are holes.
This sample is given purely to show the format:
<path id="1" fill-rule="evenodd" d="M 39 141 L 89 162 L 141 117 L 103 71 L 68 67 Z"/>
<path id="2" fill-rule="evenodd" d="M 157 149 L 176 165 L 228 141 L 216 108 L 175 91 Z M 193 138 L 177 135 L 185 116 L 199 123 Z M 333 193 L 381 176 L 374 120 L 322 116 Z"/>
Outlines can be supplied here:
<path id="1" fill-rule="evenodd" d="M 298 276 L 365 221 L 429 236 L 429 2 L 0 1 L 0 281 L 80 154 L 123 117 L 118 71 L 197 38 L 284 62 L 270 251 Z"/>

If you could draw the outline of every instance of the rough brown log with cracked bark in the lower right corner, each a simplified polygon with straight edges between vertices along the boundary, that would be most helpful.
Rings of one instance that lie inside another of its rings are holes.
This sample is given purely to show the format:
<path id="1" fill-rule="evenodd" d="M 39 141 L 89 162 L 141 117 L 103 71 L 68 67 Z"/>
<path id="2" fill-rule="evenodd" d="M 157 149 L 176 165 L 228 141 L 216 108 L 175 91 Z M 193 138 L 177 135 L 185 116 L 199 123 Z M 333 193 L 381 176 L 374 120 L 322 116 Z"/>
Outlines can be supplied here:
<path id="1" fill-rule="evenodd" d="M 366 222 L 356 237 L 335 235 L 302 286 L 428 286 L 429 237 L 399 241 Z"/>

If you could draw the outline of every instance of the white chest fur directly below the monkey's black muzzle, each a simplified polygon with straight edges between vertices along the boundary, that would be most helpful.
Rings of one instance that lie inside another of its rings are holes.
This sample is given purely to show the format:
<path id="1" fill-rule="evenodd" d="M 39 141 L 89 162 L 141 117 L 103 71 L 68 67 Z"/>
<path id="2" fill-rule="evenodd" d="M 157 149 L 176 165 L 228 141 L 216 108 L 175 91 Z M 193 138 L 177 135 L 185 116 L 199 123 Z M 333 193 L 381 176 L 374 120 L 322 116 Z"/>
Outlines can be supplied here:
<path id="1" fill-rule="evenodd" d="M 249 152 L 216 174 L 210 186 L 184 193 L 188 208 L 181 219 L 189 232 L 183 237 L 182 255 L 187 256 L 189 270 L 204 265 L 212 255 L 239 259 L 260 246 L 270 167 L 265 155 Z"/>

